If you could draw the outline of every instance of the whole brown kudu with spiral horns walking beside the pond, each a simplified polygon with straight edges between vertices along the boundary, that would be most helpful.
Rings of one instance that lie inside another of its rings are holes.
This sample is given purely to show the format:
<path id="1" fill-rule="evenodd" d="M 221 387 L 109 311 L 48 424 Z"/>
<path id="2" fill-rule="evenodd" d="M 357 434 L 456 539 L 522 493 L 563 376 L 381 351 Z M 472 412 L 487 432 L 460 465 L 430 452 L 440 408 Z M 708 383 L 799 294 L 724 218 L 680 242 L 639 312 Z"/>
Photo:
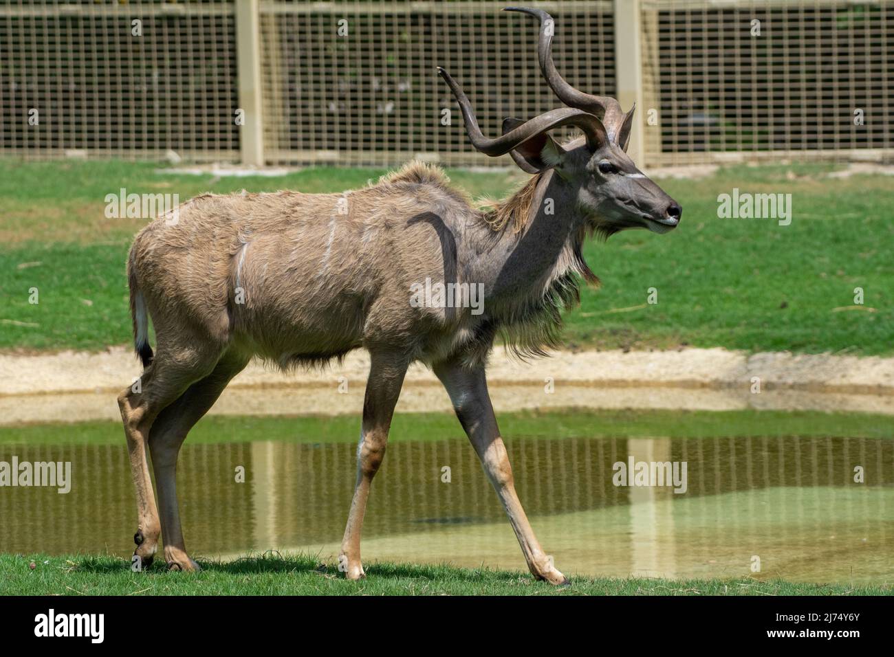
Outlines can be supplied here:
<path id="1" fill-rule="evenodd" d="M 552 21 L 538 10 L 514 11 L 543 25 Z M 632 227 L 666 232 L 679 222 L 680 208 L 624 152 L 632 110 L 623 114 L 616 100 L 562 80 L 552 65 L 551 34 L 541 29 L 540 66 L 569 106 L 527 122 L 507 119 L 496 139 L 481 133 L 468 98 L 439 69 L 472 144 L 488 156 L 511 153 L 534 174 L 493 208 L 473 206 L 440 170 L 412 163 L 345 194 L 199 196 L 179 208 L 176 222 L 159 218 L 139 232 L 128 277 L 144 371 L 139 392 L 128 388 L 118 400 L 139 509 L 135 554 L 144 565 L 161 534 L 170 568 L 197 568 L 183 544 L 177 455 L 190 427 L 249 359 L 283 368 L 317 365 L 362 347 L 371 366 L 340 558 L 347 577 L 364 575 L 360 531 L 370 484 L 404 374 L 421 361 L 449 393 L 528 568 L 553 584 L 567 581 L 541 549 L 515 493 L 485 362 L 498 334 L 521 354 L 557 345 L 561 309 L 578 299 L 578 276 L 598 280 L 581 257 L 588 234 Z M 560 146 L 547 135 L 569 125 L 583 137 Z M 552 199 L 554 213 L 544 211 L 545 199 Z M 483 312 L 411 304 L 412 286 L 428 278 L 459 289 L 483 284 Z"/>

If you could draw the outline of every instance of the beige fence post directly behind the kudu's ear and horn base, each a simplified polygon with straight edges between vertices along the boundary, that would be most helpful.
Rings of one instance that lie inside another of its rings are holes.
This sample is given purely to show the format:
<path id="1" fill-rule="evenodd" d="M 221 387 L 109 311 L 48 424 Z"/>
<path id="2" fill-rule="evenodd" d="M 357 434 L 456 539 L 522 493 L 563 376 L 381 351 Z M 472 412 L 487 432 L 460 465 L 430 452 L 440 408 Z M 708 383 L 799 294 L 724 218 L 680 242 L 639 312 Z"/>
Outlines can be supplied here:
<path id="1" fill-rule="evenodd" d="M 644 165 L 645 107 L 643 106 L 643 56 L 640 51 L 639 0 L 614 0 L 615 26 L 615 82 L 618 102 L 628 111 L 637 104 L 628 154 L 634 162 Z"/>

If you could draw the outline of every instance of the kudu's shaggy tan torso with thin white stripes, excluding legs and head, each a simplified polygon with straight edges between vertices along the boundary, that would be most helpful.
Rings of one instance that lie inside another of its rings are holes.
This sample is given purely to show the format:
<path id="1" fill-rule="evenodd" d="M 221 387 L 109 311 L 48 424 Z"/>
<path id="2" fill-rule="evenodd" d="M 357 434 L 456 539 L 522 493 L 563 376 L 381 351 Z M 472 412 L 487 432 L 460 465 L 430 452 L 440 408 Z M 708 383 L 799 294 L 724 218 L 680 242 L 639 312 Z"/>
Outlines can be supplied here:
<path id="1" fill-rule="evenodd" d="M 475 317 L 468 308 L 410 307 L 410 286 L 426 278 L 476 282 L 463 280 L 461 266 L 455 276 L 445 271 L 445 256 L 456 254 L 443 253 L 443 240 L 426 218 L 434 214 L 443 223 L 473 221 L 493 232 L 507 226 L 519 232 L 536 181 L 490 213 L 451 189 L 439 169 L 421 163 L 346 194 L 206 194 L 181 206 L 173 225 L 159 217 L 139 232 L 129 280 L 154 319 L 176 316 L 221 349 L 282 367 L 376 345 L 426 363 L 482 337 L 489 350 L 489 335 L 478 331 L 483 324 L 489 333 L 502 326 L 511 339 L 516 326 L 545 319 L 544 298 L 534 297 L 502 318 Z M 582 260 L 566 268 L 596 280 Z M 551 272 L 550 282 L 562 278 L 562 286 L 573 288 L 572 301 L 577 289 L 566 273 Z M 242 303 L 236 302 L 238 289 Z M 548 319 L 556 324 L 558 316 Z M 534 340 L 520 340 L 520 349 L 539 354 L 552 346 L 554 332 L 542 328 Z"/>

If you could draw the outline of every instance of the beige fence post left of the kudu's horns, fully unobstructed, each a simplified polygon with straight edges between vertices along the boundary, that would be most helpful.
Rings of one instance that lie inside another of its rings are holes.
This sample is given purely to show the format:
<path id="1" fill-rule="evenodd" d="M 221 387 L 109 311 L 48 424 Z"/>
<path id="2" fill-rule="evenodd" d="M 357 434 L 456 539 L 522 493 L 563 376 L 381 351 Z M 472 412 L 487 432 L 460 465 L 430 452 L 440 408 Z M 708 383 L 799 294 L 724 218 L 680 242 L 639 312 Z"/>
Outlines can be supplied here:
<path id="1" fill-rule="evenodd" d="M 255 166 L 265 164 L 260 46 L 258 0 L 236 0 L 236 73 L 239 109 L 245 113 L 245 123 L 240 126 L 240 151 L 242 164 Z"/>

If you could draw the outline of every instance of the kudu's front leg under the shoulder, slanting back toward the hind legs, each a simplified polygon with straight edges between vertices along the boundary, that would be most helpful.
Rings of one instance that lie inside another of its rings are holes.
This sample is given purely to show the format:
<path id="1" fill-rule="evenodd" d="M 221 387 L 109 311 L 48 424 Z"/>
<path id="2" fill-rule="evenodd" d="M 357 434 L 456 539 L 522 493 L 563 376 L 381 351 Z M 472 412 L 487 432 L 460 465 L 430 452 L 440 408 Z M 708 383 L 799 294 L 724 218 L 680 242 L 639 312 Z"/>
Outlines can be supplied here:
<path id="1" fill-rule="evenodd" d="M 409 365 L 407 358 L 402 355 L 371 352 L 370 356 L 372 363 L 363 401 L 363 428 L 357 446 L 357 482 L 354 486 L 354 499 L 350 502 L 348 525 L 344 529 L 342 554 L 339 556 L 339 569 L 344 570 L 348 579 L 359 579 L 366 575 L 360 561 L 363 516 L 367 510 L 370 484 L 382 465 L 394 405 L 401 394 L 403 376 Z"/>

